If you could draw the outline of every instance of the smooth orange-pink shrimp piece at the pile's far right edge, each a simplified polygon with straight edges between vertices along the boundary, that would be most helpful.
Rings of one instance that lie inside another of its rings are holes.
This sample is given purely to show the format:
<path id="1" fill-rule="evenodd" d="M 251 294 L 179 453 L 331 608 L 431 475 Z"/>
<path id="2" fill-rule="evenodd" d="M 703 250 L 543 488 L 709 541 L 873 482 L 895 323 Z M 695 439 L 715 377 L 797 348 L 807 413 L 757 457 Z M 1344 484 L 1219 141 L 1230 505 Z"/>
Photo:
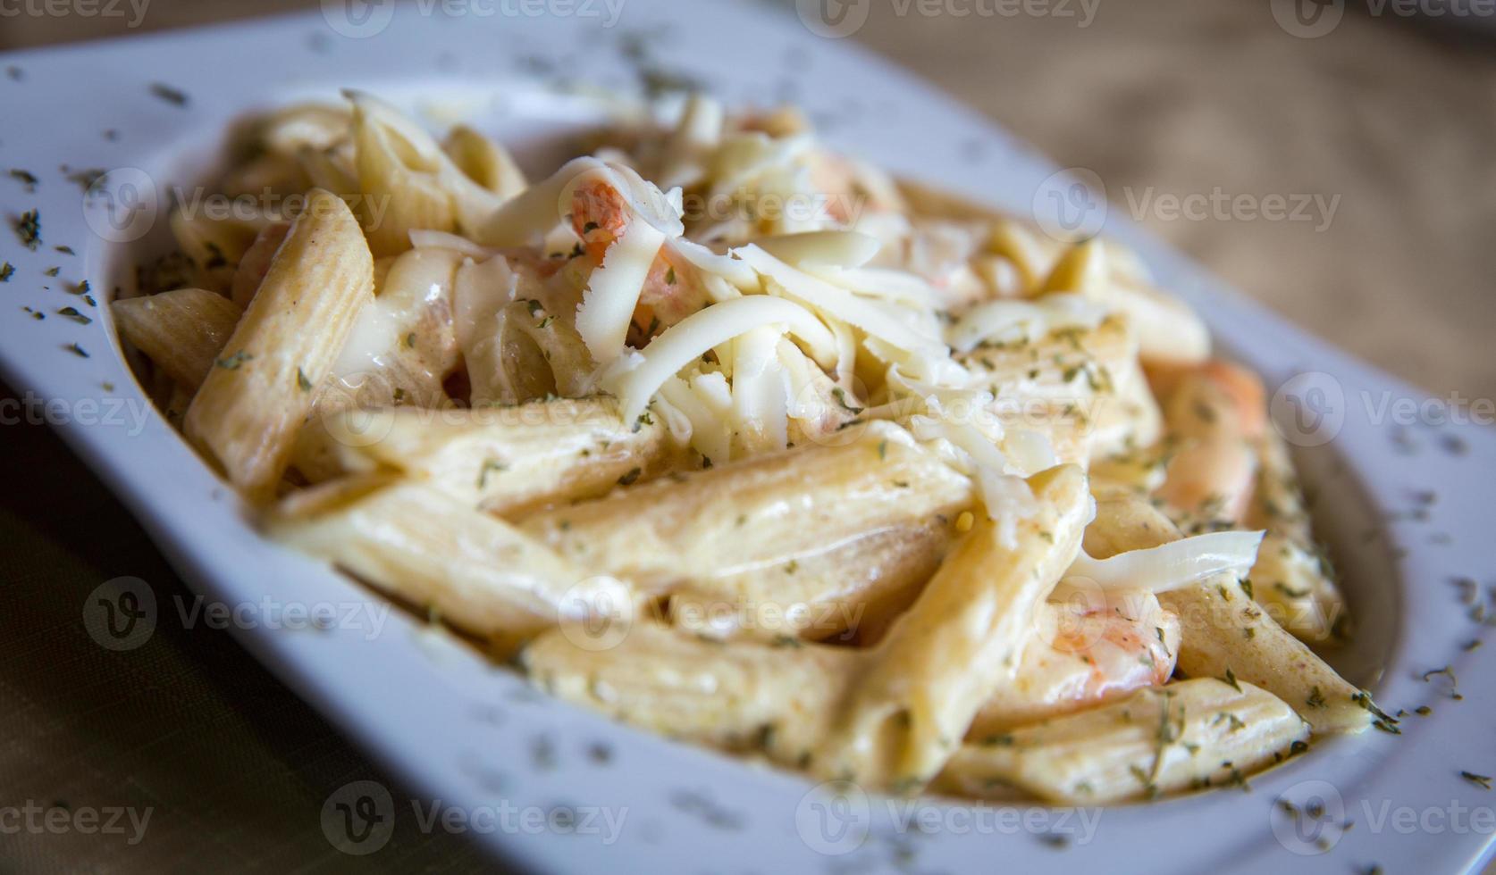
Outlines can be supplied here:
<path id="1" fill-rule="evenodd" d="M 1212 360 L 1177 375 L 1164 410 L 1177 452 L 1158 497 L 1200 525 L 1239 525 L 1257 482 L 1267 402 L 1255 374 Z"/>

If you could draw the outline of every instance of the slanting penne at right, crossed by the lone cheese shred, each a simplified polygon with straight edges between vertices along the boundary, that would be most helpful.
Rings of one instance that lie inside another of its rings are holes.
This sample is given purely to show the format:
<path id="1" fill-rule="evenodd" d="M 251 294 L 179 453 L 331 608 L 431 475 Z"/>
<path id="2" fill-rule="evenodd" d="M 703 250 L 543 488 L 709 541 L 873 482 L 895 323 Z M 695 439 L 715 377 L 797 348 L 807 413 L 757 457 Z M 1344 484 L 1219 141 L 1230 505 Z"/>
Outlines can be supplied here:
<path id="1" fill-rule="evenodd" d="M 1106 558 L 1179 538 L 1152 504 L 1123 498 L 1097 504 L 1086 552 Z M 1336 675 L 1303 642 L 1284 631 L 1231 574 L 1161 592 L 1179 616 L 1179 672 L 1189 678 L 1239 678 L 1287 701 L 1316 733 L 1361 731 L 1375 716 L 1370 697 Z"/>

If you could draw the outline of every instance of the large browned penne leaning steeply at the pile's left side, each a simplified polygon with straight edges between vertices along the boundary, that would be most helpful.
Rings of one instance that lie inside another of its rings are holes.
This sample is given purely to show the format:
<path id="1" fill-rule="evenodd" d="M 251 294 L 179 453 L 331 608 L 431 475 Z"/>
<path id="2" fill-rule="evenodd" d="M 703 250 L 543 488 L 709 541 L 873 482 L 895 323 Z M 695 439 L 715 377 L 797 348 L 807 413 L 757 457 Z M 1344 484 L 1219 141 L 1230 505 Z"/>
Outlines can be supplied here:
<path id="1" fill-rule="evenodd" d="M 184 422 L 187 437 L 250 501 L 274 495 L 313 389 L 373 299 L 373 272 L 347 205 L 313 190 Z"/>

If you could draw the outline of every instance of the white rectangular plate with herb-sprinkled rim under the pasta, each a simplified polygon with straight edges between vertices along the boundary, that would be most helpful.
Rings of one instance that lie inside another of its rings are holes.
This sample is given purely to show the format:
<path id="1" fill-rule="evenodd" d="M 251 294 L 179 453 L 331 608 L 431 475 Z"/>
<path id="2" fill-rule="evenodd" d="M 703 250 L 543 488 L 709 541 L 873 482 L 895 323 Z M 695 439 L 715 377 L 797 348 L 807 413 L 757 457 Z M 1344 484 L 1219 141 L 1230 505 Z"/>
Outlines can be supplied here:
<path id="1" fill-rule="evenodd" d="M 428 117 L 471 118 L 521 154 L 539 156 L 546 138 L 603 118 L 606 105 L 579 84 L 628 91 L 666 70 L 697 78 L 730 105 L 799 102 L 833 145 L 901 175 L 1044 220 L 1076 220 L 1059 209 L 1077 205 L 1080 220 L 1104 215 L 1104 202 L 1073 199 L 1055 168 L 984 120 L 847 42 L 812 34 L 788 13 L 700 0 L 630 3 L 610 28 L 601 3 L 552 4 L 573 12 L 546 16 L 495 3 L 486 6 L 491 15 L 461 18 L 443 15 L 441 4 L 355 3 L 358 18 L 346 15 L 341 0 L 323 6 L 305 16 L 0 60 L 0 69 L 15 69 L 0 76 L 10 121 L 0 136 L 0 165 L 39 176 L 34 191 L 0 178 L 7 226 L 0 229 L 0 260 L 15 266 L 0 284 L 0 369 L 18 389 L 55 399 L 61 413 L 52 419 L 69 446 L 141 518 L 183 577 L 227 604 L 378 601 L 254 532 L 232 492 L 142 407 L 103 307 L 135 259 L 165 248 L 168 187 L 190 187 L 209 169 L 226 127 L 245 112 L 359 87 Z M 171 90 L 186 103 L 171 99 Z M 109 176 L 84 197 L 67 176 L 94 168 Z M 27 251 L 9 226 L 33 208 L 43 244 Z M 1263 371 L 1276 390 L 1275 419 L 1300 447 L 1321 532 L 1360 630 L 1333 661 L 1388 710 L 1433 706 L 1427 718 L 1403 718 L 1402 736 L 1370 731 L 1322 742 L 1257 778 L 1249 793 L 1092 809 L 1085 818 L 1041 806 L 824 799 L 797 776 L 551 701 L 402 613 L 373 637 L 359 628 L 260 624 L 238 630 L 239 639 L 425 799 L 470 812 L 497 809 L 501 800 L 546 812 L 570 806 L 607 814 L 618 826 L 615 835 L 597 823 L 583 829 L 580 820 L 539 833 L 510 824 L 479 836 L 524 868 L 1122 868 L 1153 875 L 1266 868 L 1342 874 L 1373 863 L 1393 872 L 1477 868 L 1490 854 L 1496 796 L 1460 773 L 1496 773 L 1496 706 L 1484 694 L 1496 648 L 1462 648 L 1483 627 L 1469 619 L 1451 579 L 1477 579 L 1480 598 L 1489 598 L 1484 586 L 1496 574 L 1489 532 L 1493 432 L 1426 422 L 1448 417 L 1448 408 L 1222 289 L 1140 236 L 1125 217 L 1106 217 L 1106 232 L 1132 242 L 1161 284 L 1198 307 L 1230 354 Z M 46 275 L 52 266 L 57 277 Z M 97 308 L 78 295 L 85 280 Z M 58 316 L 64 307 L 93 322 Z M 117 404 L 126 408 L 111 416 Z M 1408 419 L 1409 405 L 1417 420 Z M 144 413 L 139 426 L 129 411 Z M 1448 697 L 1442 678 L 1421 678 L 1447 664 L 1462 679 L 1478 679 L 1468 682 L 1463 701 Z M 329 799 L 329 841 L 341 829 L 340 803 L 370 811 L 358 806 L 365 790 Z M 375 806 L 392 805 L 387 791 L 371 790 L 370 797 Z M 1300 805 L 1322 799 L 1328 815 L 1302 823 L 1276 806 L 1279 797 Z M 1414 812 L 1411 830 L 1405 809 Z M 911 814 L 914 826 L 905 820 Z M 1354 827 L 1343 829 L 1345 821 Z M 362 844 L 344 839 L 355 851 L 377 853 L 377 830 Z"/>

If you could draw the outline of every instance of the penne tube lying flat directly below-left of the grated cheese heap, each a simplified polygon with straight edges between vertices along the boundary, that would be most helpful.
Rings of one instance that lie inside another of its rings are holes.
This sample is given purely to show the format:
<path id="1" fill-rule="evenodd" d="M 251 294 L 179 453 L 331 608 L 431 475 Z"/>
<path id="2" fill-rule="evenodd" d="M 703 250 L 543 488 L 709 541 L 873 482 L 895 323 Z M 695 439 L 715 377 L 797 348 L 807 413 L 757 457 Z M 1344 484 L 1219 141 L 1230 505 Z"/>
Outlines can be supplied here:
<path id="1" fill-rule="evenodd" d="M 606 495 L 672 467 L 663 425 L 628 428 L 613 398 L 516 407 L 344 410 L 325 417 L 341 473 L 401 471 L 500 516 Z"/>

